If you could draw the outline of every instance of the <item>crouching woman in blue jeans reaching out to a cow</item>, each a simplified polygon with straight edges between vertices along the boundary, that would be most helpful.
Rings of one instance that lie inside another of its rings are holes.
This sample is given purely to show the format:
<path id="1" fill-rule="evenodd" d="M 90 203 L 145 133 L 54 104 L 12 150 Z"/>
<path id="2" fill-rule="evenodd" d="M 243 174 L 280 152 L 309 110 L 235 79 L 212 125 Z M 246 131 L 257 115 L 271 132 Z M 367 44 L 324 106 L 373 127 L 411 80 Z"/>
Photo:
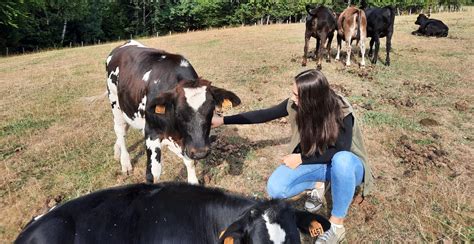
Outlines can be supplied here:
<path id="1" fill-rule="evenodd" d="M 345 236 L 344 218 L 356 186 L 361 185 L 367 195 L 373 181 L 360 130 L 351 105 L 329 87 L 320 71 L 298 74 L 292 92 L 291 98 L 274 107 L 215 117 L 212 124 L 255 124 L 289 116 L 288 155 L 268 179 L 268 194 L 288 198 L 313 188 L 316 182 L 331 182 L 332 225 L 316 243 L 339 242 Z M 317 210 L 323 195 L 324 186 L 316 187 L 305 207 Z"/>

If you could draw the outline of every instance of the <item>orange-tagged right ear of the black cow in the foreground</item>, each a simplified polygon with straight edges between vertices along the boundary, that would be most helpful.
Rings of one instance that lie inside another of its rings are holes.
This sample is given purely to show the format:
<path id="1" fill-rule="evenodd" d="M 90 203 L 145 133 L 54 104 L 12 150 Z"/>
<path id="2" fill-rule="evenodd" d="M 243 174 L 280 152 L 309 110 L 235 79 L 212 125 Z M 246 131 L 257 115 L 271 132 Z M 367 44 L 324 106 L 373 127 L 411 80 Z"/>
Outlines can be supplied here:
<path id="1" fill-rule="evenodd" d="M 312 237 L 322 235 L 331 227 L 331 223 L 321 215 L 299 210 L 295 210 L 295 215 L 298 229 Z"/>

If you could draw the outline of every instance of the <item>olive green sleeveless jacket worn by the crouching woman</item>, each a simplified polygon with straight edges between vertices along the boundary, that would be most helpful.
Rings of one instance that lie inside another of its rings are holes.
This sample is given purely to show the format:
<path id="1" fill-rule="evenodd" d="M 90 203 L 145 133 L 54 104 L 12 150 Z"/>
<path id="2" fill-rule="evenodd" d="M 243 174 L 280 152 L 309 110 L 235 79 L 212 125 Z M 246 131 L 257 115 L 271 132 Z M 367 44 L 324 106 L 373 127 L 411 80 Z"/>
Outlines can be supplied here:
<path id="1" fill-rule="evenodd" d="M 354 117 L 354 126 L 352 127 L 352 144 L 351 144 L 351 152 L 357 155 L 361 160 L 364 166 L 364 181 L 362 183 L 362 195 L 366 196 L 370 193 L 371 189 L 373 188 L 373 176 L 372 171 L 369 166 L 369 162 L 367 160 L 367 151 L 364 147 L 364 141 L 362 139 L 362 135 L 360 132 L 359 125 L 357 123 L 357 119 L 354 114 L 354 110 L 351 104 L 341 95 L 339 96 L 339 104 L 341 105 L 341 109 L 343 112 L 343 116 L 346 117 L 349 114 L 352 114 Z M 291 99 L 288 99 L 288 105 L 286 110 L 288 111 L 288 121 L 291 124 L 291 140 L 288 147 L 288 154 L 293 153 L 295 148 L 300 143 L 300 133 L 298 131 L 298 125 L 296 124 L 296 110 L 293 108 L 294 102 Z"/>

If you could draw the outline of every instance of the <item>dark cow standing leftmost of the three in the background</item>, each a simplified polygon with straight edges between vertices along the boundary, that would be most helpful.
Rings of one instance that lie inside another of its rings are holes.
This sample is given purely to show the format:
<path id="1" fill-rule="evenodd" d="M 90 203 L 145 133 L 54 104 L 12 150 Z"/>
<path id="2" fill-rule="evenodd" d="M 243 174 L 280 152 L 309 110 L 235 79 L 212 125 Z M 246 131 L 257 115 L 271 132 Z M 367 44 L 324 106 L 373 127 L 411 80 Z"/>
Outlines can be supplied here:
<path id="1" fill-rule="evenodd" d="M 327 62 L 331 62 L 331 42 L 336 30 L 336 16 L 334 12 L 324 6 L 318 6 L 311 8 L 310 5 L 306 5 L 306 11 L 308 16 L 306 17 L 306 30 L 304 33 L 304 55 L 302 65 L 306 66 L 306 56 L 308 54 L 308 43 L 311 37 L 316 38 L 316 56 L 318 57 L 318 69 L 321 69 L 321 63 L 323 59 L 323 50 L 321 45 L 327 41 Z"/>

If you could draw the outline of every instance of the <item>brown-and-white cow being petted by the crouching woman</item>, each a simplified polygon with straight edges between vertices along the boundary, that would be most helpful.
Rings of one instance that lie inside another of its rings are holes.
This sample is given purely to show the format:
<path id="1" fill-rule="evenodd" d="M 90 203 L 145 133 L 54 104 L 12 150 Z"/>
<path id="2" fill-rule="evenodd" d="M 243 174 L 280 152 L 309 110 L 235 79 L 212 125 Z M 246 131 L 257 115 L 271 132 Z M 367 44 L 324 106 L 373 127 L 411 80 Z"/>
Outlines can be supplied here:
<path id="1" fill-rule="evenodd" d="M 107 58 L 107 89 L 117 141 L 114 156 L 122 172 L 132 170 L 125 144 L 129 125 L 145 135 L 147 182 L 161 174 L 161 147 L 183 159 L 188 182 L 198 184 L 194 160 L 209 153 L 215 106 L 237 106 L 232 92 L 198 77 L 181 55 L 148 48 L 136 41 L 115 48 Z"/>

